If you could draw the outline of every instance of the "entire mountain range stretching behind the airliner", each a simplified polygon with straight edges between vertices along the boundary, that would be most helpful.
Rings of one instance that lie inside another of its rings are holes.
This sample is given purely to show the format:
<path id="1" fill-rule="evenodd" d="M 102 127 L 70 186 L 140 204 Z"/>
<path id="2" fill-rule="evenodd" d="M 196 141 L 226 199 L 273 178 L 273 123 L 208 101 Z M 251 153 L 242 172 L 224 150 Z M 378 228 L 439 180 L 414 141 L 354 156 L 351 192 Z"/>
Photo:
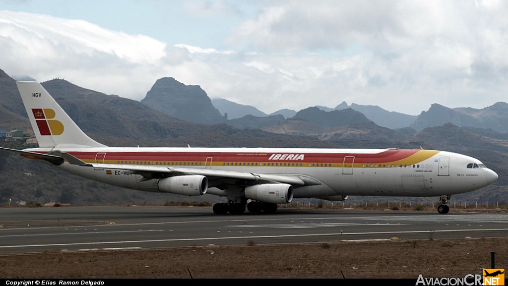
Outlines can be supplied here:
<path id="1" fill-rule="evenodd" d="M 42 85 L 84 132 L 106 145 L 442 149 L 478 157 L 499 174 L 498 181 L 487 189 L 457 195 L 457 198 L 508 201 L 506 103 L 480 110 L 450 109 L 434 104 L 419 116 L 346 103 L 330 109 L 309 107 L 294 114 L 288 110 L 262 114 L 259 110 L 255 113 L 257 109 L 253 107 L 210 100 L 200 86 L 188 86 L 170 77 L 157 80 L 141 102 L 79 87 L 62 79 Z M 240 116 L 238 106 L 244 112 L 257 115 Z M 237 118 L 231 118 L 230 114 Z M 30 128 L 15 80 L 0 70 L 0 130 Z M 50 171 L 51 179 L 46 180 L 43 174 L 48 168 L 41 167 L 44 164 L 15 160 L 13 156 L 0 153 L 3 179 L 0 201 L 8 197 L 25 201 L 64 198 L 74 204 L 90 204 L 143 199 L 160 202 L 162 198 L 96 185 L 59 170 Z M 38 174 L 36 187 L 25 173 Z M 55 184 L 66 187 L 55 189 Z M 34 193 L 34 188 L 38 192 Z M 93 191 L 85 192 L 85 189 Z M 164 198 L 168 197 L 172 198 Z M 179 199 L 182 198 L 175 198 Z"/>

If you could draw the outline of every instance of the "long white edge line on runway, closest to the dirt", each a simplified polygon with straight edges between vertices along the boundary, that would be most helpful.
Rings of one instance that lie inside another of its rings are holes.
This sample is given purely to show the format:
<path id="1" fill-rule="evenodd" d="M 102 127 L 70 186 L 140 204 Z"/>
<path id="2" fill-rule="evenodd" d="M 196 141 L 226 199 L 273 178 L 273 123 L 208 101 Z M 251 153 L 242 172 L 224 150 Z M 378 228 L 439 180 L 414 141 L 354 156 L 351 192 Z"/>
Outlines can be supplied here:
<path id="1" fill-rule="evenodd" d="M 4 245 L 4 248 L 24 248 L 43 246 L 78 246 L 78 245 L 107 245 L 124 243 L 150 243 L 150 242 L 178 242 L 178 241 L 209 241 L 209 240 L 232 240 L 232 239 L 260 239 L 260 238 L 290 238 L 290 237 L 324 237 L 324 236 L 352 236 L 352 235 L 379 235 L 379 234 L 415 234 L 415 233 L 452 233 L 452 232 L 485 232 L 485 231 L 508 231 L 508 229 L 476 229 L 476 230 L 439 230 L 439 231 L 397 231 L 397 232 L 357 232 L 357 233 L 328 233 L 328 234 L 296 234 L 296 235 L 267 235 L 267 236 L 235 236 L 235 237 L 207 237 L 207 238 L 179 238 L 179 239 L 154 239 L 154 240 L 126 240 L 104 242 L 79 242 L 79 243 L 50 243 L 50 244 L 27 244 L 27 245 Z"/>

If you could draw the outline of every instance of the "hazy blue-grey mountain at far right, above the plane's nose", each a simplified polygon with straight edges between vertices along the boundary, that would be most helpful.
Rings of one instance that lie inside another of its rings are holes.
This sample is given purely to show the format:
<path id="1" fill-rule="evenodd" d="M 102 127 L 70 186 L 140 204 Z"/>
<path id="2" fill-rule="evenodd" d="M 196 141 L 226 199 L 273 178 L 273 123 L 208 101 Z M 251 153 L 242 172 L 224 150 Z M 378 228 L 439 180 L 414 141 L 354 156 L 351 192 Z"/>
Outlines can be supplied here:
<path id="1" fill-rule="evenodd" d="M 498 102 L 483 109 L 448 108 L 432 104 L 411 124 L 415 130 L 453 123 L 460 127 L 491 129 L 499 133 L 508 132 L 508 103 Z"/>

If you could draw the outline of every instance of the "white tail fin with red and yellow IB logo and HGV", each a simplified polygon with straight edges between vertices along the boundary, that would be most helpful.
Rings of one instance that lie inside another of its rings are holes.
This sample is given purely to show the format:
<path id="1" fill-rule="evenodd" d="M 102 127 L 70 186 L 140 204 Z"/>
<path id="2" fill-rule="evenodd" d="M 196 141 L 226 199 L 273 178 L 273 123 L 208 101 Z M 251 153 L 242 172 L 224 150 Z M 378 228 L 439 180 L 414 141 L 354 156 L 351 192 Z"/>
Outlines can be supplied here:
<path id="1" fill-rule="evenodd" d="M 39 147 L 107 147 L 88 137 L 38 82 L 16 82 Z"/>

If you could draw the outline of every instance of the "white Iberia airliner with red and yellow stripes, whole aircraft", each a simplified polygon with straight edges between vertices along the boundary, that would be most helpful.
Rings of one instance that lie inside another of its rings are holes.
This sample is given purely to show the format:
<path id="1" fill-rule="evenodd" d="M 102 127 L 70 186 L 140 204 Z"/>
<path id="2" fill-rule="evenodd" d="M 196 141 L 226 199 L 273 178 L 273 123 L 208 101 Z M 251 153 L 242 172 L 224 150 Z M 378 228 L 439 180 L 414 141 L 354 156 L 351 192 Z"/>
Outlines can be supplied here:
<path id="1" fill-rule="evenodd" d="M 227 198 L 213 206 L 216 214 L 350 195 L 436 196 L 437 211 L 448 213 L 451 195 L 497 180 L 479 160 L 437 150 L 108 147 L 83 133 L 40 83 L 17 85 L 39 147 L 2 149 L 116 186 Z"/>

